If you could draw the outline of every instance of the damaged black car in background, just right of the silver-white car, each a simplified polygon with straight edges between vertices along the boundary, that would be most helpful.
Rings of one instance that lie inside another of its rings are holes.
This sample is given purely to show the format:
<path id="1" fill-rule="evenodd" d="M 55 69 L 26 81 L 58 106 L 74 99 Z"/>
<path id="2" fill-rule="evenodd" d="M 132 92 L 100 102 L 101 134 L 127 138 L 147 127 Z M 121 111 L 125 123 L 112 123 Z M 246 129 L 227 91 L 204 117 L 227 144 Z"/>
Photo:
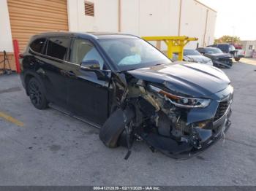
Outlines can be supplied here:
<path id="1" fill-rule="evenodd" d="M 233 65 L 233 56 L 227 53 L 223 53 L 222 50 L 215 47 L 199 47 L 198 52 L 202 55 L 211 58 L 211 61 L 216 67 L 226 67 L 230 68 Z"/>

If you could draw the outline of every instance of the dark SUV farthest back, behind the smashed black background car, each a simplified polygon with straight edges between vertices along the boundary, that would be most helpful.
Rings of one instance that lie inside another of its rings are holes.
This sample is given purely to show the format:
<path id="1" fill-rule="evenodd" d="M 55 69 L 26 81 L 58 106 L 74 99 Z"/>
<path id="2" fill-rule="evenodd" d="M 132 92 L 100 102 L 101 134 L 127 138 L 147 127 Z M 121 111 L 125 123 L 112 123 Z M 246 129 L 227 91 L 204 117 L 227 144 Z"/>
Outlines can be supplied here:
<path id="1" fill-rule="evenodd" d="M 245 53 L 244 50 L 241 50 L 241 49 L 236 50 L 233 44 L 220 43 L 220 44 L 213 44 L 208 47 L 217 47 L 220 50 L 222 50 L 222 52 L 224 53 L 230 53 L 231 55 L 233 55 L 233 58 L 237 62 L 240 61 L 241 58 L 244 58 L 244 53 Z"/>

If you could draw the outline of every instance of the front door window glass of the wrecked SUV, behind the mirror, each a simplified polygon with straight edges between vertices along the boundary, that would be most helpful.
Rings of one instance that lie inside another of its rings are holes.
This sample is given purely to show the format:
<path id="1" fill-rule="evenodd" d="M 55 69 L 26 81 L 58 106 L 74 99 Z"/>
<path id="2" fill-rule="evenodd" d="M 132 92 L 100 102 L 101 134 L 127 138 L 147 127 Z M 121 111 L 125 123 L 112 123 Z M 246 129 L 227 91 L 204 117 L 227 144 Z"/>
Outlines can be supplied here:
<path id="1" fill-rule="evenodd" d="M 94 47 L 94 44 L 85 39 L 74 39 L 70 61 L 80 64 L 82 61 L 96 60 L 100 69 L 104 68 L 104 60 Z"/>

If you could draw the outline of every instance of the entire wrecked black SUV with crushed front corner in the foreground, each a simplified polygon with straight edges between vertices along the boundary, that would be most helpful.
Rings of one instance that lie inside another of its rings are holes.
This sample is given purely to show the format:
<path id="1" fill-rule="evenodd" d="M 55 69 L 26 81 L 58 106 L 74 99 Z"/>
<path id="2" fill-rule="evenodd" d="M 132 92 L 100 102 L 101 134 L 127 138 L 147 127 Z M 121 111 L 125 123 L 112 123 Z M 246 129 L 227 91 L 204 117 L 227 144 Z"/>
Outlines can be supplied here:
<path id="1" fill-rule="evenodd" d="M 143 140 L 191 157 L 230 126 L 233 87 L 219 69 L 173 64 L 137 36 L 50 32 L 32 36 L 20 78 L 37 109 L 48 104 L 94 125 L 107 147 Z"/>

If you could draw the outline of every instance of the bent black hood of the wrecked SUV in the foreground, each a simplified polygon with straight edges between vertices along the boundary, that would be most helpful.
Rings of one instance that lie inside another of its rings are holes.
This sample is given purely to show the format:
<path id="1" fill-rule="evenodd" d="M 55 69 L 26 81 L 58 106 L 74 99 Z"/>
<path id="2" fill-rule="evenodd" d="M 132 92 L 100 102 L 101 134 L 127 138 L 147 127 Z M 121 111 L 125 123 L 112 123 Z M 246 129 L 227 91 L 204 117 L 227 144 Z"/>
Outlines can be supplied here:
<path id="1" fill-rule="evenodd" d="M 137 79 L 164 85 L 173 93 L 199 98 L 224 90 L 230 84 L 226 74 L 213 66 L 175 63 L 135 69 L 127 73 Z"/>

